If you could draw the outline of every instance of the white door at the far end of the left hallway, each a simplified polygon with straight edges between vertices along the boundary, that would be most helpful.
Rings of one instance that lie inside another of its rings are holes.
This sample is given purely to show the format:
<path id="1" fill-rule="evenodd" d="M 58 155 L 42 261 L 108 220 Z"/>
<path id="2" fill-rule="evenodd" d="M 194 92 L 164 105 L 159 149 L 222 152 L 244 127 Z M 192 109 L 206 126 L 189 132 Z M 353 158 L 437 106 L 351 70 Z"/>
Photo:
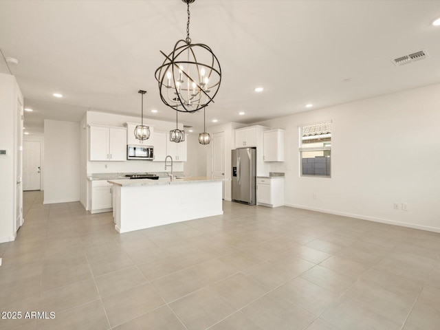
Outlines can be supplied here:
<path id="1" fill-rule="evenodd" d="M 41 142 L 23 141 L 23 190 L 41 188 Z"/>

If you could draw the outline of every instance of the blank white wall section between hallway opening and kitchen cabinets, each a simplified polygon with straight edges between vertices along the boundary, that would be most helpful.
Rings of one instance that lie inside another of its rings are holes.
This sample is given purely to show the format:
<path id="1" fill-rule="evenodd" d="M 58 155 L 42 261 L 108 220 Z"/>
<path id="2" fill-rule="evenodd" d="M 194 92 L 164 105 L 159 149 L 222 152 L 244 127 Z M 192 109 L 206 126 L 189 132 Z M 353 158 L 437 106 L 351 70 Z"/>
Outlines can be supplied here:
<path id="1" fill-rule="evenodd" d="M 44 121 L 44 202 L 80 199 L 80 123 Z"/>

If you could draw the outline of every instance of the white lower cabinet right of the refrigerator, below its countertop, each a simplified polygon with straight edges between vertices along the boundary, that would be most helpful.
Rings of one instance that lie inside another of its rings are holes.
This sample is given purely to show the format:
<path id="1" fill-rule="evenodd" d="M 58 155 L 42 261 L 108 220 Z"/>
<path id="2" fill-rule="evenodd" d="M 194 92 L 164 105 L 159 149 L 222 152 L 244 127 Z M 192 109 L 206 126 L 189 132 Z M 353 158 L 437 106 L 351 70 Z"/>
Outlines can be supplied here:
<path id="1" fill-rule="evenodd" d="M 284 205 L 284 177 L 256 177 L 256 203 L 276 208 Z"/>

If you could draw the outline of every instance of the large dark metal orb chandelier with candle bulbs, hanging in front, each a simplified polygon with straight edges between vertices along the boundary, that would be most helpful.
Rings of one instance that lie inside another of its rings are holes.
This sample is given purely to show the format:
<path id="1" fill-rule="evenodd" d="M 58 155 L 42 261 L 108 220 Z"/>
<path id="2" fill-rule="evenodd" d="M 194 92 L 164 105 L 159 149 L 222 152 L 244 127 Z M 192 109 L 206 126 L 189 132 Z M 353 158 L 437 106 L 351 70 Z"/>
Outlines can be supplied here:
<path id="1" fill-rule="evenodd" d="M 162 102 L 182 112 L 195 112 L 214 102 L 221 83 L 221 68 L 217 56 L 203 43 L 191 43 L 190 3 L 187 5 L 188 21 L 186 39 L 179 40 L 173 52 L 164 55 L 164 63 L 156 69 Z"/>

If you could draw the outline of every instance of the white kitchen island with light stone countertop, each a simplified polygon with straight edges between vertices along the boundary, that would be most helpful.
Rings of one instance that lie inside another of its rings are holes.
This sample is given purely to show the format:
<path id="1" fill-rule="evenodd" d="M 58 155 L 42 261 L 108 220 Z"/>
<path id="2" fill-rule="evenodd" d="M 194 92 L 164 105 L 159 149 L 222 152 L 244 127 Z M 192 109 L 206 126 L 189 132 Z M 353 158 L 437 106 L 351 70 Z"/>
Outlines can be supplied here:
<path id="1" fill-rule="evenodd" d="M 223 179 L 186 177 L 175 181 L 113 179 L 115 230 L 131 232 L 157 225 L 223 214 Z"/>

